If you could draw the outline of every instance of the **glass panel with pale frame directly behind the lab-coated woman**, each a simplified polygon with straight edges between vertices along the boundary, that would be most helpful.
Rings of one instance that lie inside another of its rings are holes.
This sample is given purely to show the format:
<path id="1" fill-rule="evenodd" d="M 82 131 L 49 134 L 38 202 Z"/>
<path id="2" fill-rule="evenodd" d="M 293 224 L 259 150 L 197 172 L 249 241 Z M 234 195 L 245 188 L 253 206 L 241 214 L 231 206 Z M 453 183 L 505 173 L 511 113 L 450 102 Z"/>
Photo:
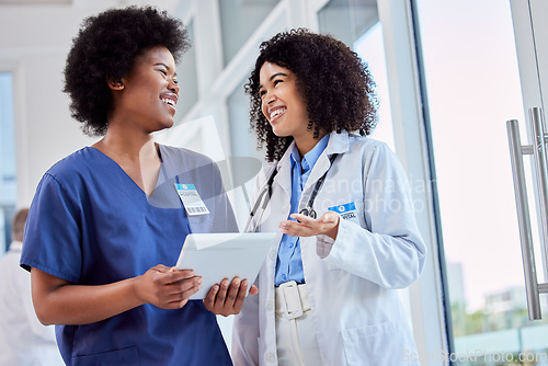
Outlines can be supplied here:
<path id="1" fill-rule="evenodd" d="M 351 46 L 368 65 L 377 84 L 379 121 L 372 138 L 387 142 L 402 162 L 411 183 L 419 228 L 429 255 L 419 281 L 400 290 L 409 313 L 418 354 L 402 363 L 446 352 L 443 294 L 434 227 L 432 179 L 429 169 L 411 1 L 317 1 L 318 30 Z M 429 365 L 443 365 L 434 361 Z"/>

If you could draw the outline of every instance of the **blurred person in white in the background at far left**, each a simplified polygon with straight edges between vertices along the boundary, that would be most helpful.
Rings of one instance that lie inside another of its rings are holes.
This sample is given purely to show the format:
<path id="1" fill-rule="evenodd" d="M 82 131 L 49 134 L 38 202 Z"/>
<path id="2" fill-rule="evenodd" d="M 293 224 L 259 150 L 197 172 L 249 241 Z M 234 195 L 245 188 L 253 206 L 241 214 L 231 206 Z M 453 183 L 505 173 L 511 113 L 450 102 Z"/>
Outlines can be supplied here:
<path id="1" fill-rule="evenodd" d="M 31 274 L 19 266 L 28 208 L 12 220 L 10 250 L 0 259 L 0 366 L 64 365 L 54 327 L 34 312 Z"/>

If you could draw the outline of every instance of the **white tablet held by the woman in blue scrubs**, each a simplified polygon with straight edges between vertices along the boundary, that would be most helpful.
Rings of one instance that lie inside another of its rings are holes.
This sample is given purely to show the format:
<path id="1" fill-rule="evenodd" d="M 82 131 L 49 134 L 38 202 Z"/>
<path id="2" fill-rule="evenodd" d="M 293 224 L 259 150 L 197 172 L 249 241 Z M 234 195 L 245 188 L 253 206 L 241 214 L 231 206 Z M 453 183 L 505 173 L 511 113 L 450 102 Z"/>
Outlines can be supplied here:
<path id="1" fill-rule="evenodd" d="M 273 244 L 275 232 L 190 233 L 175 267 L 202 276 L 202 288 L 191 299 L 203 299 L 224 278 L 248 279 L 248 290 Z"/>

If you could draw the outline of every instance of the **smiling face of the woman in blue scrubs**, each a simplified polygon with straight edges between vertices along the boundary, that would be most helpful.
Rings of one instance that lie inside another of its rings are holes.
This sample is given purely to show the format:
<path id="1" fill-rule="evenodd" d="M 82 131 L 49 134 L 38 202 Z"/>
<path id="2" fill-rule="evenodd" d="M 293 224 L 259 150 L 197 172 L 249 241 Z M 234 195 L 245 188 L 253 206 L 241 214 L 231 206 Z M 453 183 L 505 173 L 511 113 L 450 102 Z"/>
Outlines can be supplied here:
<path id="1" fill-rule="evenodd" d="M 117 117 L 148 134 L 173 125 L 180 88 L 175 60 L 165 47 L 150 48 L 138 56 L 121 88 L 121 93 L 114 92 Z M 111 89 L 116 91 L 116 84 Z"/>

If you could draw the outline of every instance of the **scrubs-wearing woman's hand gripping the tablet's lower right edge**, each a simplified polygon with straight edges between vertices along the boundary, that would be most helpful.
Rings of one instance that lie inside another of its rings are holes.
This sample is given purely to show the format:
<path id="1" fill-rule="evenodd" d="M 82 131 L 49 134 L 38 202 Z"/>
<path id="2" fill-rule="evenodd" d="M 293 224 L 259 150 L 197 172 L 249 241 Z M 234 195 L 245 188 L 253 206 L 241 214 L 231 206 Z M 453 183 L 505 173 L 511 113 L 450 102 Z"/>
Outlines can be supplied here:
<path id="1" fill-rule="evenodd" d="M 220 282 L 220 285 L 215 285 L 207 293 L 204 299 L 204 305 L 207 310 L 218 316 L 232 316 L 240 312 L 246 300 L 246 293 L 248 291 L 248 279 L 240 282 L 239 277 L 235 277 L 232 283 L 227 278 Z M 256 295 L 259 289 L 255 285 L 251 285 L 249 289 L 250 295 Z"/>

